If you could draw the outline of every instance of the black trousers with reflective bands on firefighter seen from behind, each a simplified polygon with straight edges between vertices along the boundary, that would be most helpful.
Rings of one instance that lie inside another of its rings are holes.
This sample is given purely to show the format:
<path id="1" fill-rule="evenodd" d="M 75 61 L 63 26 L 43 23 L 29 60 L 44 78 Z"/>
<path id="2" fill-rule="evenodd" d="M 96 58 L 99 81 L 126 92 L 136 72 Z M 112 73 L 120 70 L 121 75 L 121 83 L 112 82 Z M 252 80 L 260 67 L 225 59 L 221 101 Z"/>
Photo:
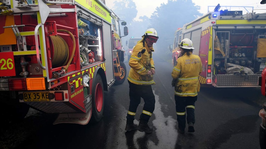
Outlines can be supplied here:
<path id="1" fill-rule="evenodd" d="M 176 101 L 176 112 L 177 112 L 177 122 L 180 129 L 185 129 L 186 127 L 186 118 L 187 123 L 195 123 L 195 101 L 197 96 L 194 97 L 181 97 L 175 96 Z M 187 117 L 186 117 L 187 115 Z"/>

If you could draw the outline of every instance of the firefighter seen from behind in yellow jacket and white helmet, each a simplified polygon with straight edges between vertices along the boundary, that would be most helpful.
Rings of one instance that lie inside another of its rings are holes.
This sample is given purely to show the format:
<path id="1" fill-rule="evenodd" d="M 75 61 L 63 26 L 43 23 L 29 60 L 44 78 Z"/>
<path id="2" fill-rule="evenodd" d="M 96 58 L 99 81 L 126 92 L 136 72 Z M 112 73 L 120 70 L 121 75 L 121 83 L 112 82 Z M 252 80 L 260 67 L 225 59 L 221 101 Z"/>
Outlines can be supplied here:
<path id="1" fill-rule="evenodd" d="M 195 131 L 195 101 L 200 89 L 199 74 L 202 72 L 202 62 L 199 56 L 192 54 L 194 48 L 190 39 L 183 39 L 179 48 L 181 56 L 177 59 L 172 71 L 172 85 L 175 87 L 178 131 L 183 134 L 186 119 L 188 132 Z"/>

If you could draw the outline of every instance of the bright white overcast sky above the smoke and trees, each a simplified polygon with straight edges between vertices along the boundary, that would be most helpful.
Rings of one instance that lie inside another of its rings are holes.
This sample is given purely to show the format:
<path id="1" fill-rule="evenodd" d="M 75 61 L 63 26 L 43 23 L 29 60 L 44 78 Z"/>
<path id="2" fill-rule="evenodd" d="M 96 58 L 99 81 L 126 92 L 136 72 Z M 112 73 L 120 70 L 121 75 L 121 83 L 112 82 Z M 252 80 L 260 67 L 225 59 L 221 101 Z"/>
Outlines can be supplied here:
<path id="1" fill-rule="evenodd" d="M 113 8 L 115 0 L 105 0 L 106 6 L 108 6 L 110 9 Z M 152 13 L 155 11 L 156 7 L 160 7 L 161 3 L 167 3 L 168 0 L 133 0 L 136 4 L 136 8 L 138 10 L 138 14 L 136 18 L 139 18 L 140 16 L 146 15 L 147 17 L 150 17 Z M 260 4 L 261 0 L 192 0 L 195 5 L 201 6 L 200 13 L 206 14 L 208 13 L 208 6 L 217 6 L 219 3 L 220 6 L 253 6 L 255 9 L 265 9 L 265 10 L 256 10 L 258 13 L 260 12 L 266 12 L 266 4 L 262 5 Z M 177 8 L 178 9 L 178 8 Z M 189 9 L 189 8 L 188 8 Z M 210 7 L 209 7 L 210 9 Z M 230 10 L 230 7 L 221 7 L 220 10 Z M 214 7 L 210 9 L 209 11 L 213 11 Z M 240 8 L 231 8 L 231 10 L 240 10 Z M 251 8 L 247 9 L 249 12 L 251 12 Z M 119 14 L 117 14 L 119 17 Z M 138 19 L 137 19 L 138 20 Z"/>

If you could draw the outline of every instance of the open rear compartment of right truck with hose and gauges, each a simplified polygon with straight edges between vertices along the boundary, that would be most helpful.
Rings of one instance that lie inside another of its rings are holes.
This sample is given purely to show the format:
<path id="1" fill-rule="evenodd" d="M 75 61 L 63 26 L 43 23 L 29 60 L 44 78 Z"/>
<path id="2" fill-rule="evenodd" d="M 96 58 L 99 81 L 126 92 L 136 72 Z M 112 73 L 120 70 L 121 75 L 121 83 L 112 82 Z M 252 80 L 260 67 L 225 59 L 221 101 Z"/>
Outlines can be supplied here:
<path id="1" fill-rule="evenodd" d="M 216 32 L 214 40 L 214 63 L 216 64 L 216 74 L 244 75 L 254 74 L 260 71 L 258 66 L 256 66 L 258 65 L 259 58 L 256 58 L 256 51 L 254 50 L 256 49 L 257 44 L 257 40 L 254 39 L 254 37 L 258 36 L 256 33 L 260 34 L 259 30 L 234 29 L 230 31 Z M 261 47 L 263 47 L 263 44 Z M 260 49 L 258 48 L 258 50 Z M 261 54 L 263 55 L 264 53 L 261 52 Z M 232 69 L 234 69 L 234 71 L 232 71 Z M 238 69 L 238 71 L 236 69 Z"/>

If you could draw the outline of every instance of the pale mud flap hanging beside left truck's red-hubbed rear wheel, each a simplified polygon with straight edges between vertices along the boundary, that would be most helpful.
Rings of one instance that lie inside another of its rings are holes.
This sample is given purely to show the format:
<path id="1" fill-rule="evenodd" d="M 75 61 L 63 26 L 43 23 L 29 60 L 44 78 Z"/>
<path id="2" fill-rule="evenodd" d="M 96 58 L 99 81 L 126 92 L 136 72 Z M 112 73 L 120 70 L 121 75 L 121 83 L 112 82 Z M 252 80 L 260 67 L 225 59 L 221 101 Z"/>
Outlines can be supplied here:
<path id="1" fill-rule="evenodd" d="M 53 124 L 55 125 L 60 123 L 74 123 L 86 125 L 89 123 L 91 114 L 92 108 L 89 110 L 88 113 L 60 113 Z"/>

